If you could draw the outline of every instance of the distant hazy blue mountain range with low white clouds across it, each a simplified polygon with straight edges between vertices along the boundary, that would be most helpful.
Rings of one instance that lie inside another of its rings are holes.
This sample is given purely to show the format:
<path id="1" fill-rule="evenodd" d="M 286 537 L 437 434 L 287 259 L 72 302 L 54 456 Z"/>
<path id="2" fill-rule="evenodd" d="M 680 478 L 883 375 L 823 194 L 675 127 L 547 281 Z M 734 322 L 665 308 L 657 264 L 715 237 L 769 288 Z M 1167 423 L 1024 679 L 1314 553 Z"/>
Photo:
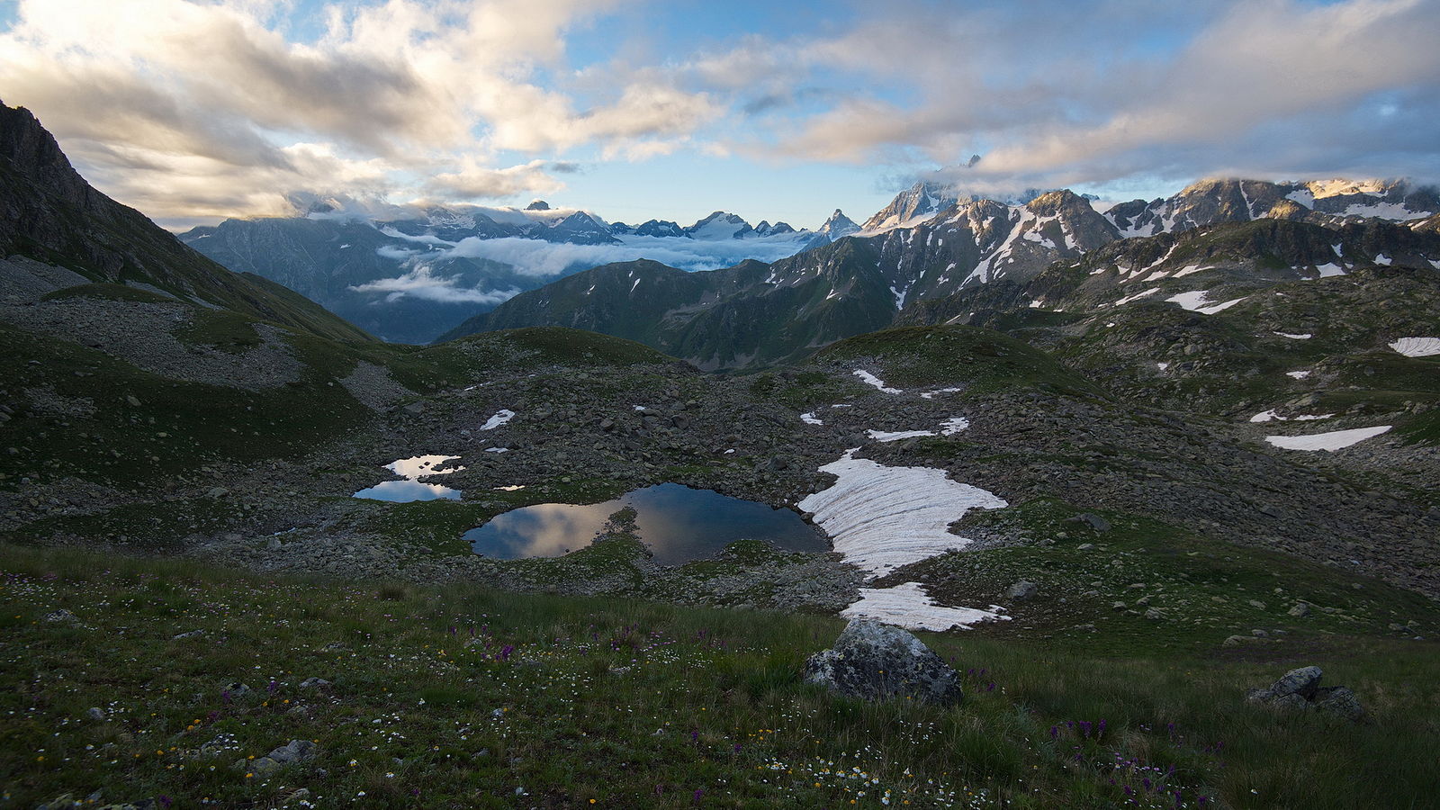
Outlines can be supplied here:
<path id="1" fill-rule="evenodd" d="M 312 200 L 301 216 L 226 219 L 180 239 L 386 340 L 428 343 L 521 291 L 615 258 L 651 255 L 710 270 L 742 258 L 791 255 L 828 242 L 831 231 L 750 225 L 720 210 L 688 226 L 655 219 L 631 226 L 543 200 L 523 210 L 372 210 L 347 200 Z"/>

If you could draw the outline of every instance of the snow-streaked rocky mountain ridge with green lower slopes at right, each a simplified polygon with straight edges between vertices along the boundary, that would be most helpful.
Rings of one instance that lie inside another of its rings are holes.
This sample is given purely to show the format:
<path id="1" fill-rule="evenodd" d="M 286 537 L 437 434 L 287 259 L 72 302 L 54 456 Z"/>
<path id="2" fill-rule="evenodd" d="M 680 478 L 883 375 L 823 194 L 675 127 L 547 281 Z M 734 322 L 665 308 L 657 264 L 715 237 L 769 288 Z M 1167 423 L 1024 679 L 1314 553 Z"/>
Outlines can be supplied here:
<path id="1" fill-rule="evenodd" d="M 867 228 L 778 262 L 696 274 L 651 261 L 609 264 L 516 295 L 449 336 L 566 326 L 639 340 L 703 369 L 743 369 L 906 323 L 917 308 L 965 321 L 960 310 L 984 297 L 982 288 L 1024 288 L 1057 262 L 1109 255 L 1112 245 L 1151 267 L 1149 274 L 1126 267 L 1128 280 L 1204 264 L 1211 248 L 1200 245 L 1228 244 L 1237 233 L 1250 239 L 1243 255 L 1264 257 L 1295 278 L 1382 257 L 1428 267 L 1440 261 L 1440 242 L 1426 235 L 1436 210 L 1433 192 L 1403 183 L 1205 180 L 1169 199 L 1104 210 L 1068 190 L 1007 205 L 943 199 L 916 184 Z"/>

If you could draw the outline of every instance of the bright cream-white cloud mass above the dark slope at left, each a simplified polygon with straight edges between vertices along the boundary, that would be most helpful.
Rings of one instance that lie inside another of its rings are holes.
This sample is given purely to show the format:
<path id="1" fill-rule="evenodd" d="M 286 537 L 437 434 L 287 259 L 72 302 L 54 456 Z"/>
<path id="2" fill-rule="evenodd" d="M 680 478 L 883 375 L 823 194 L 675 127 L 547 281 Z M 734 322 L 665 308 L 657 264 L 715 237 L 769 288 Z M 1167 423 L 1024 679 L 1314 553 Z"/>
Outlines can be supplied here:
<path id="1" fill-rule="evenodd" d="M 664 74 L 583 99 L 554 81 L 569 32 L 621 4 L 336 3 L 324 33 L 298 42 L 275 22 L 292 10 L 279 0 L 22 0 L 0 33 L 0 98 L 161 219 L 279 215 L 294 192 L 549 193 L 563 187 L 549 159 L 670 151 L 721 112 Z"/>

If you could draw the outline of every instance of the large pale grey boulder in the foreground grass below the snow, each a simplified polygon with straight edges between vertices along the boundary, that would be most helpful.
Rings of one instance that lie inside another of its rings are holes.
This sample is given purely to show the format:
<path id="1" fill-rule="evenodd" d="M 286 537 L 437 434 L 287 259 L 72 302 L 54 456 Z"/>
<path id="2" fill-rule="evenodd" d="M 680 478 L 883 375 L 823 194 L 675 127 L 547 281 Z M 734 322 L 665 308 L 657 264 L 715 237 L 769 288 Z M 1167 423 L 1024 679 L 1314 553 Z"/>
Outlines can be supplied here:
<path id="1" fill-rule="evenodd" d="M 805 680 L 848 698 L 917 698 L 958 703 L 960 675 L 919 638 L 899 627 L 855 618 L 829 650 L 805 662 Z"/>

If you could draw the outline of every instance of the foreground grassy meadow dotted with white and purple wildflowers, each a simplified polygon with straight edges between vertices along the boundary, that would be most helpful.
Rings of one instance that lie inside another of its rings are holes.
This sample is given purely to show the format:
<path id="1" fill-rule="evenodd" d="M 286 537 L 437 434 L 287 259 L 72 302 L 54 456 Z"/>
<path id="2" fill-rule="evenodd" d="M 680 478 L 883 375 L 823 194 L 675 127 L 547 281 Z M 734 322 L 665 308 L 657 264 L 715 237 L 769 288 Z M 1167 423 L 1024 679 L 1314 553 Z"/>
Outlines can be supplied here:
<path id="1" fill-rule="evenodd" d="M 1440 780 L 1430 643 L 1156 659 L 1103 637 L 926 634 L 966 700 L 867 705 L 799 679 L 829 618 L 14 546 L 0 568 L 0 796 L 16 807 L 95 790 L 281 806 L 300 788 L 323 807 L 1174 807 L 1174 790 L 1182 807 L 1418 807 Z M 60 608 L 76 623 L 45 618 Z M 1300 663 L 1356 689 L 1374 722 L 1243 705 Z M 236 682 L 251 693 L 226 695 Z M 253 770 L 291 739 L 320 757 Z"/>

